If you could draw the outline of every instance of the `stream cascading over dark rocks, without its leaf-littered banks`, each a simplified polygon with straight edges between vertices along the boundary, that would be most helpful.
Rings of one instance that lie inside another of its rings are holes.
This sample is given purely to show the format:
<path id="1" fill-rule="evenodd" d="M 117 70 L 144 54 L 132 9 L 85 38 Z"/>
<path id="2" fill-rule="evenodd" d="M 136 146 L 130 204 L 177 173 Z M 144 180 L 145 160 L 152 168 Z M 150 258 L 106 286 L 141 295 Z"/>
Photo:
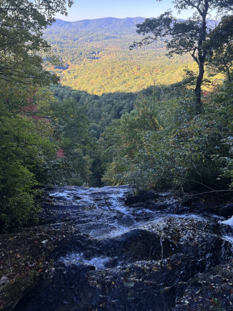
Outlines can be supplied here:
<path id="1" fill-rule="evenodd" d="M 223 219 L 169 193 L 127 206 L 132 193 L 129 186 L 47 189 L 44 208 L 56 228 L 66 219 L 71 238 L 16 310 L 169 311 L 195 275 L 230 260 L 233 233 Z"/>

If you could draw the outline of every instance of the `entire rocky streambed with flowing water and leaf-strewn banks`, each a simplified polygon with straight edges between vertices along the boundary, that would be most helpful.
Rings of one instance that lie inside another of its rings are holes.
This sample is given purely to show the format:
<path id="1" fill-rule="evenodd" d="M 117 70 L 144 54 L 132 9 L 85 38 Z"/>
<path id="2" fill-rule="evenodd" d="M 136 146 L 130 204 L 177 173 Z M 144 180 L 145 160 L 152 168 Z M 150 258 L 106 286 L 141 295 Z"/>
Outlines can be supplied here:
<path id="1" fill-rule="evenodd" d="M 8 263 L 11 274 L 16 263 L 17 277 L 36 281 L 15 299 L 11 293 L 10 303 L 7 288 L 20 283 L 6 276 L 2 309 L 233 310 L 231 221 L 222 222 L 204 200 L 132 197 L 129 186 L 54 187 L 46 189 L 43 207 L 46 223 L 21 234 L 23 265 L 11 257 Z"/>

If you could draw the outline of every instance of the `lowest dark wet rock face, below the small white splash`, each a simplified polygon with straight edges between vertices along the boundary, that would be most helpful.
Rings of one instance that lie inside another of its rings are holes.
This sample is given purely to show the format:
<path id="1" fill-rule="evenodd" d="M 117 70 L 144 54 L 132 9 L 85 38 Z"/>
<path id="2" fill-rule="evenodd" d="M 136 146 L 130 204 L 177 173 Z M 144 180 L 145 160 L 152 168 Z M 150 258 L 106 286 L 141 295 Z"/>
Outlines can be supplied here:
<path id="1" fill-rule="evenodd" d="M 206 246 L 206 255 L 209 251 Z M 64 311 L 88 310 L 89 304 L 89 308 L 101 305 L 119 311 L 171 311 L 177 301 L 182 301 L 190 280 L 208 270 L 207 262 L 200 265 L 202 255 L 197 256 L 195 248 L 189 248 L 189 252 L 177 252 L 165 258 L 162 264 L 141 260 L 107 270 L 94 270 L 82 264 L 60 264 L 53 278 L 43 282 L 36 296 L 22 300 L 16 310 L 51 311 L 60 310 L 61 306 Z M 217 255 L 218 262 L 224 259 L 221 256 L 222 252 Z M 198 281 L 194 284 L 197 284 L 197 292 L 202 285 Z"/>

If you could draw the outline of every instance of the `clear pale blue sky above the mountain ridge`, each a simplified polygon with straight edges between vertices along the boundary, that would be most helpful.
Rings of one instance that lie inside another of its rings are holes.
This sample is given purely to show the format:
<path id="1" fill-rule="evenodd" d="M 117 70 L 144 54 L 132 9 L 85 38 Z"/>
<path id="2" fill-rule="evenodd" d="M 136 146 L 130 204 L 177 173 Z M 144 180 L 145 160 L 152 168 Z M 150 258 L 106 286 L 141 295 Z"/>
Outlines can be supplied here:
<path id="1" fill-rule="evenodd" d="M 68 9 L 68 16 L 57 15 L 64 21 L 78 21 L 101 17 L 157 17 L 167 9 L 174 9 L 171 0 L 75 0 L 75 4 Z M 187 18 L 190 11 L 184 11 L 177 15 L 179 18 Z"/>

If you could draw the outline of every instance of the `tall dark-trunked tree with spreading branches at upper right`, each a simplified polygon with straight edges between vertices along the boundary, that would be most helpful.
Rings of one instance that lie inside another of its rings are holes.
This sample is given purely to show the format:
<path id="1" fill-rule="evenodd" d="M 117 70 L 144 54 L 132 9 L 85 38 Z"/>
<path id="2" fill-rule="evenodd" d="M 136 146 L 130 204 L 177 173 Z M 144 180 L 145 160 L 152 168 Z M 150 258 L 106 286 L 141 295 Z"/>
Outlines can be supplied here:
<path id="1" fill-rule="evenodd" d="M 195 12 L 185 21 L 175 18 L 171 11 L 166 11 L 157 18 L 145 19 L 142 24 L 137 24 L 136 26 L 139 34 L 147 36 L 139 42 L 134 42 L 130 49 L 148 45 L 158 41 L 160 38 L 164 38 L 169 57 L 174 53 L 180 55 L 190 53 L 199 67 L 194 88 L 194 112 L 199 114 L 202 110 L 201 87 L 204 76 L 204 64 L 208 55 L 208 49 L 203 44 L 212 27 L 215 27 L 215 25 L 208 23 L 208 18 L 212 18 L 211 12 L 213 10 L 222 12 L 222 16 L 224 13 L 232 10 L 233 1 L 174 0 L 173 3 L 179 13 L 188 8 L 194 9 Z"/>

